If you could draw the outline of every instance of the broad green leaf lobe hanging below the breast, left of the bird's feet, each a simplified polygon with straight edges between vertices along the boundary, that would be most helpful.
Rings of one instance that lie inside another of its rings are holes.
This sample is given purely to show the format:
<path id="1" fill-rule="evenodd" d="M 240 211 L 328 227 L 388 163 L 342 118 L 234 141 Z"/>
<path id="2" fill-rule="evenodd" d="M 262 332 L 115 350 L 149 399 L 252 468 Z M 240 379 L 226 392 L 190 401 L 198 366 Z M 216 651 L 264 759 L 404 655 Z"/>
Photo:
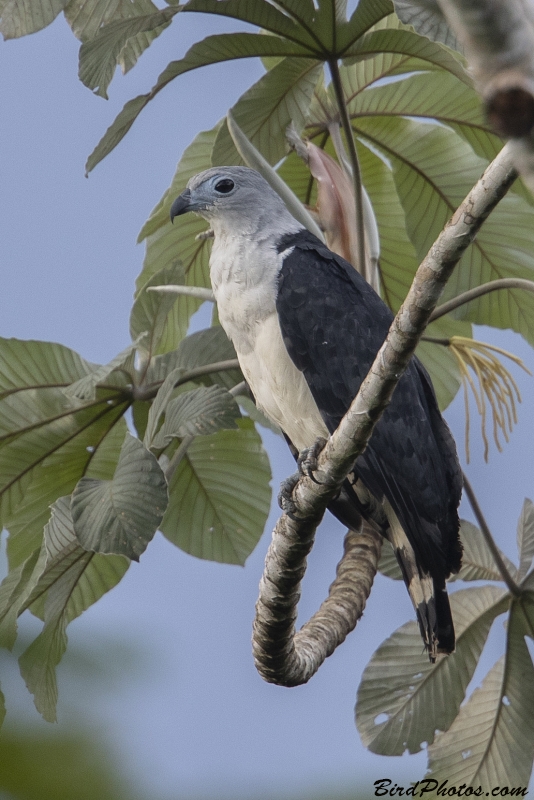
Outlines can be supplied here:
<path id="1" fill-rule="evenodd" d="M 271 472 L 249 419 L 194 439 L 169 487 L 161 530 L 186 553 L 244 564 L 269 513 Z"/>

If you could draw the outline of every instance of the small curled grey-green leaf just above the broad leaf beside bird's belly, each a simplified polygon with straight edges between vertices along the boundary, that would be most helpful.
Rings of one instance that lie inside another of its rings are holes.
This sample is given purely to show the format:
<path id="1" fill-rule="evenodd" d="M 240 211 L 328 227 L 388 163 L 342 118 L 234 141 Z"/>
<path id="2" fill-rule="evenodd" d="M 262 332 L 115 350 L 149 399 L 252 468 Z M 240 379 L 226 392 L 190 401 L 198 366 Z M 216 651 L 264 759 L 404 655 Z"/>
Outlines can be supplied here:
<path id="1" fill-rule="evenodd" d="M 173 438 L 209 436 L 219 430 L 237 428 L 239 417 L 239 407 L 226 389 L 201 386 L 171 400 L 152 446 L 163 449 Z"/>

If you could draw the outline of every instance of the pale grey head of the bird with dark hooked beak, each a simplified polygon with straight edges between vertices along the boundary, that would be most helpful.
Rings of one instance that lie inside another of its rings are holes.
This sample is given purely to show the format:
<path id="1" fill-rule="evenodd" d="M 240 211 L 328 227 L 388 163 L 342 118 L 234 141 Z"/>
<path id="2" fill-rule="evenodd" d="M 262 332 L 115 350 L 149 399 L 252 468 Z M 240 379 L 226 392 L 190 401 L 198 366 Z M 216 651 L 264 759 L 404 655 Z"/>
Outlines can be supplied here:
<path id="1" fill-rule="evenodd" d="M 187 211 L 207 219 L 216 234 L 302 227 L 259 172 L 248 167 L 212 167 L 195 175 L 172 204 L 171 220 Z"/>

